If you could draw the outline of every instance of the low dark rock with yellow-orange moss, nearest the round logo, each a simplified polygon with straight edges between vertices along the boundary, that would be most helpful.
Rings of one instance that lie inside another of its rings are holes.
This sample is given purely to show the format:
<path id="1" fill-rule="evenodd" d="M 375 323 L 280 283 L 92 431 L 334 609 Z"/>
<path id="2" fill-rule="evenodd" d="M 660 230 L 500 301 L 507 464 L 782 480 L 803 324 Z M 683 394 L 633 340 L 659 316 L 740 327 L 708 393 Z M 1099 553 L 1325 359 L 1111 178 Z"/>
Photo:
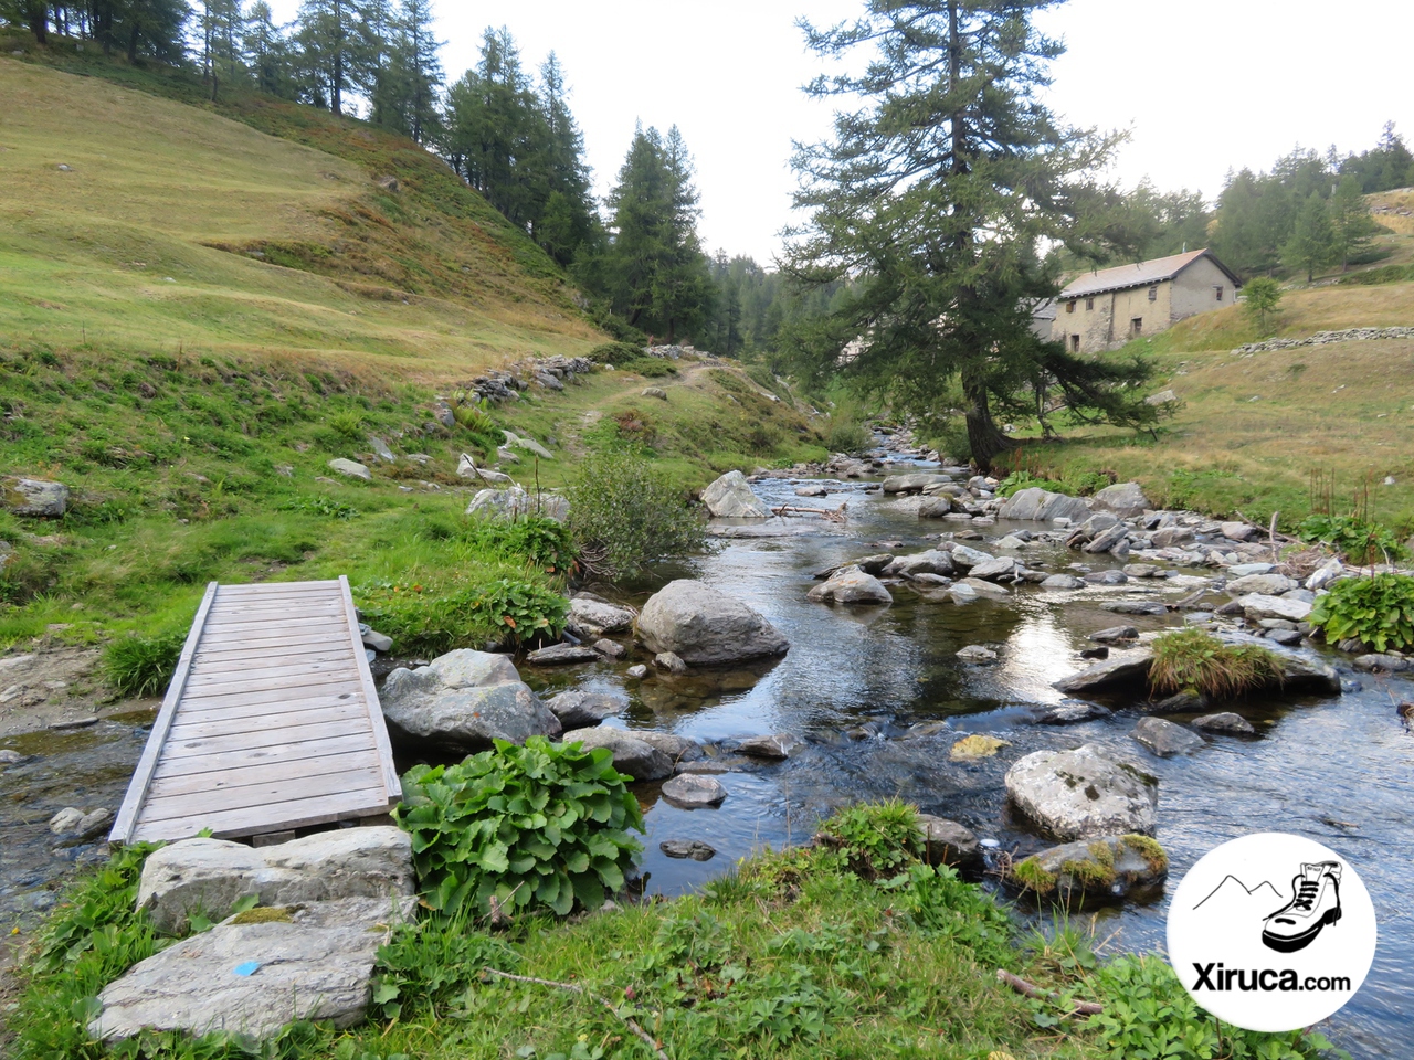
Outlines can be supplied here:
<path id="1" fill-rule="evenodd" d="M 1036 897 L 1079 907 L 1114 902 L 1168 876 L 1168 855 L 1147 835 L 1103 835 L 1052 847 L 1011 866 L 1007 882 Z"/>

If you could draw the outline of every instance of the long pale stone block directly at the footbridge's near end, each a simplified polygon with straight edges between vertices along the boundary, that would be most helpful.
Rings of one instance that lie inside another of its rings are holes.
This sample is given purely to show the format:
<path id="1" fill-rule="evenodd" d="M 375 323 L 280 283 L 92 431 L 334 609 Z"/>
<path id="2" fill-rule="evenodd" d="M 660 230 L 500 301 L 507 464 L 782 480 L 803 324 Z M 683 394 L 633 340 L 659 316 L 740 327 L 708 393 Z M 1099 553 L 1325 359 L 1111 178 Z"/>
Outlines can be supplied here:
<path id="1" fill-rule="evenodd" d="M 175 933 L 191 913 L 225 916 L 249 895 L 262 906 L 290 906 L 411 895 L 416 883 L 411 837 L 402 828 L 341 828 L 273 847 L 197 838 L 148 855 L 137 907 L 158 930 Z"/>

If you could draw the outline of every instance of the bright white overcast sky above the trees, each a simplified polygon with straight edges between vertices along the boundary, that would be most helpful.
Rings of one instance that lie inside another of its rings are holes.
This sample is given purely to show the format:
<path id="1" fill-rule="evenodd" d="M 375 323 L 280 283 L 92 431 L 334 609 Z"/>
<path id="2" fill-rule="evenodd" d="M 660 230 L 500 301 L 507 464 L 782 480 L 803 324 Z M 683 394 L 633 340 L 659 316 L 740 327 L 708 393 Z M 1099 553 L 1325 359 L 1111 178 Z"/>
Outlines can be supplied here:
<path id="1" fill-rule="evenodd" d="M 297 0 L 276 0 L 293 18 Z M 697 163 L 708 252 L 768 264 L 790 220 L 790 141 L 829 133 L 800 85 L 822 72 L 795 20 L 853 18 L 863 0 L 434 0 L 448 82 L 506 25 L 527 68 L 554 49 L 600 194 L 633 123 L 677 124 Z M 1209 199 L 1232 168 L 1268 168 L 1297 143 L 1343 154 L 1394 120 L 1414 147 L 1411 0 L 1072 0 L 1041 25 L 1065 38 L 1052 107 L 1077 126 L 1131 129 L 1110 177 Z"/>

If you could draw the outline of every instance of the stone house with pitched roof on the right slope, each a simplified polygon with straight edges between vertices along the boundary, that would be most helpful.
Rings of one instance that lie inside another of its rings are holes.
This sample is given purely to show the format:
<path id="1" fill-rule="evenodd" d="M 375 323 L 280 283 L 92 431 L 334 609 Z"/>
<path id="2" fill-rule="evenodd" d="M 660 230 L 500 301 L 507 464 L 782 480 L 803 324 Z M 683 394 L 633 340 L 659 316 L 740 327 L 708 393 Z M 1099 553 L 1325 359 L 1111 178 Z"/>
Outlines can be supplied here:
<path id="1" fill-rule="evenodd" d="M 1051 338 L 1072 353 L 1123 346 L 1237 298 L 1241 281 L 1209 250 L 1083 273 L 1056 295 Z"/>

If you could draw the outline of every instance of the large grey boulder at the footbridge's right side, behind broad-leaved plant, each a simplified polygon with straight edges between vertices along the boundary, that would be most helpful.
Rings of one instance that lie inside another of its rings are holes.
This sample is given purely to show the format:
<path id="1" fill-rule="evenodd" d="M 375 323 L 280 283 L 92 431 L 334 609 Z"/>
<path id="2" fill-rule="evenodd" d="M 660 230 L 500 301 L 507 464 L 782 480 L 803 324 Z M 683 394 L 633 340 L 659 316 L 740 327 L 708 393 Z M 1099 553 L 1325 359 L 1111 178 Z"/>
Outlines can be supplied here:
<path id="1" fill-rule="evenodd" d="M 458 649 L 387 676 L 380 695 L 393 735 L 417 743 L 485 750 L 495 739 L 559 736 L 560 722 L 506 656 Z"/>

